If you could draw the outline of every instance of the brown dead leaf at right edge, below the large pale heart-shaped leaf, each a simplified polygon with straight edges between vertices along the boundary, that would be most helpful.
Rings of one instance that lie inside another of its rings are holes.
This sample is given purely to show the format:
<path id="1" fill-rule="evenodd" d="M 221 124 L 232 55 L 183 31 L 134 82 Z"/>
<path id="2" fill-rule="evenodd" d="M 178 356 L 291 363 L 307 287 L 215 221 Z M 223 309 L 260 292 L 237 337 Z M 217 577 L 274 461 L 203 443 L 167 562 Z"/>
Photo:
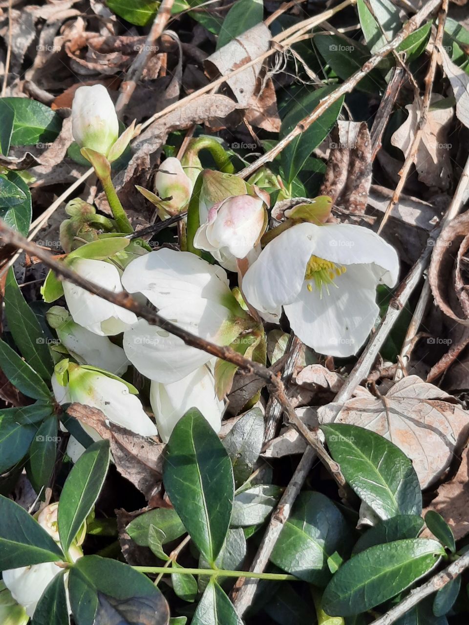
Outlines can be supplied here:
<path id="1" fill-rule="evenodd" d="M 435 510 L 451 527 L 456 541 L 469 533 L 469 452 L 463 453 L 463 460 L 455 477 L 442 484 L 438 495 L 423 510 L 425 516 L 429 510 Z M 425 529 L 422 537 L 430 537 L 431 532 Z"/>

